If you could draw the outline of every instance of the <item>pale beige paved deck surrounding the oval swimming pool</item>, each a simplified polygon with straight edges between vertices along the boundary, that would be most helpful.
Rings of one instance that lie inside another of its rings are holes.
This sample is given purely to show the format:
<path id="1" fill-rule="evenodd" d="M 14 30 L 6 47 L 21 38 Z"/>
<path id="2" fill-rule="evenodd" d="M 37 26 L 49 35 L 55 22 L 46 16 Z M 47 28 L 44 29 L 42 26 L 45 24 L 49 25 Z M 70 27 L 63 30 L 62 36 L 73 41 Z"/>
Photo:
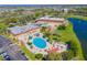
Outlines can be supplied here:
<path id="1" fill-rule="evenodd" d="M 31 34 L 32 35 L 32 40 L 34 37 L 36 37 L 34 35 L 35 33 Z M 40 33 L 40 36 L 39 37 L 42 37 L 43 34 Z M 32 48 L 28 45 L 28 41 L 32 42 L 32 40 L 28 40 L 29 36 L 26 37 L 21 37 L 21 41 L 24 43 L 24 45 L 26 46 L 26 48 L 29 51 L 31 51 L 31 53 L 34 53 L 34 54 L 37 54 L 37 53 L 41 53 L 43 55 L 46 55 L 48 53 L 54 53 L 54 52 L 57 52 L 57 53 L 61 53 L 61 52 L 64 52 L 67 50 L 67 45 L 63 44 L 63 42 L 53 42 L 53 44 L 50 44 L 50 42 L 46 41 L 46 47 L 45 48 L 40 48 L 37 46 L 35 46 L 33 43 L 32 43 Z M 44 39 L 44 37 L 42 37 Z M 44 39 L 45 40 L 45 39 Z"/>

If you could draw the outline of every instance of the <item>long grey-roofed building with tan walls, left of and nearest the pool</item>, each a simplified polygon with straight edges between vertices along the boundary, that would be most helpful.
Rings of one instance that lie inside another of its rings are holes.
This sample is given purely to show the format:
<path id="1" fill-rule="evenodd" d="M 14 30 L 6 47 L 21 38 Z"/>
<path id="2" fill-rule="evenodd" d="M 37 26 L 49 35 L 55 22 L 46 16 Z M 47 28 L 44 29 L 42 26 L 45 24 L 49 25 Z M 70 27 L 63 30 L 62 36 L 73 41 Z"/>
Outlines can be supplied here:
<path id="1" fill-rule="evenodd" d="M 9 28 L 8 30 L 12 39 L 20 40 L 24 36 L 28 36 L 29 34 L 40 31 L 40 26 L 35 23 L 29 23 L 23 26 Z"/>

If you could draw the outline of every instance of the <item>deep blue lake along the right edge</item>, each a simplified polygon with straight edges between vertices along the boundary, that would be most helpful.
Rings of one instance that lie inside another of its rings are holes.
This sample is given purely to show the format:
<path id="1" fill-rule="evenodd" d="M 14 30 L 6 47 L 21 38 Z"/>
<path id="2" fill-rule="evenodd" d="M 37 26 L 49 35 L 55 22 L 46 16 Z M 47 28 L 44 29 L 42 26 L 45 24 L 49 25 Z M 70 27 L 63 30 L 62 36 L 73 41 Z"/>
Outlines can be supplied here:
<path id="1" fill-rule="evenodd" d="M 68 20 L 73 23 L 74 31 L 81 43 L 84 55 L 87 59 L 87 21 L 75 18 L 69 18 Z"/>

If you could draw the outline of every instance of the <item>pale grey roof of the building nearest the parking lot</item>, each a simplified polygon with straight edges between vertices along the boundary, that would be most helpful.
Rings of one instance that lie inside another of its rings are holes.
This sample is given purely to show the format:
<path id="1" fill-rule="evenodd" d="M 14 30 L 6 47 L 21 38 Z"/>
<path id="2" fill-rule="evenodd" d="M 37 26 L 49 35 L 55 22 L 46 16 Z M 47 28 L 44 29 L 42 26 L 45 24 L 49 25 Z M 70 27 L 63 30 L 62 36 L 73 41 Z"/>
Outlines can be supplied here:
<path id="1" fill-rule="evenodd" d="M 9 30 L 13 34 L 20 34 L 36 28 L 39 28 L 39 25 L 32 23 L 23 26 L 13 26 L 13 28 L 10 28 Z"/>

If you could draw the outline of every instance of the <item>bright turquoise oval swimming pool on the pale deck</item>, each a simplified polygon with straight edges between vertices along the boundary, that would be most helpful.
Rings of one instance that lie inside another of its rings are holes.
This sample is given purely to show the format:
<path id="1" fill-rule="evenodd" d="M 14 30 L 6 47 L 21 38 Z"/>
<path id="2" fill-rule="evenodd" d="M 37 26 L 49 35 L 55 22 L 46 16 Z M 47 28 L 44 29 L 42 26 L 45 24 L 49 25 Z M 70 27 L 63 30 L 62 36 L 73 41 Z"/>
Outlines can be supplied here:
<path id="1" fill-rule="evenodd" d="M 39 48 L 45 48 L 46 47 L 46 41 L 42 37 L 34 37 L 32 43 Z"/>

